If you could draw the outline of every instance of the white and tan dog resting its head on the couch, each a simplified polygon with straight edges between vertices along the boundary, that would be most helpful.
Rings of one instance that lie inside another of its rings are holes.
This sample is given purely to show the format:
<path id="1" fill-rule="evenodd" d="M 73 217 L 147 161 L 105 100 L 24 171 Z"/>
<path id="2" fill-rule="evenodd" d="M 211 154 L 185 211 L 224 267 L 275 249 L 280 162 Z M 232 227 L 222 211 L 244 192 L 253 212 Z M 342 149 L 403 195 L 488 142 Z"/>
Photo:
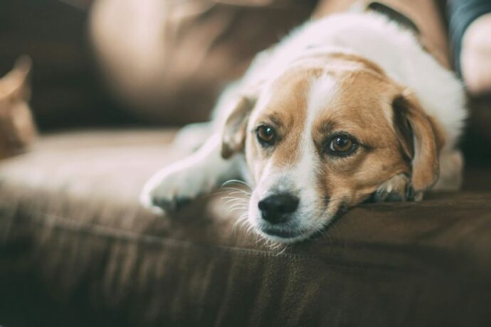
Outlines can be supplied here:
<path id="1" fill-rule="evenodd" d="M 241 176 L 254 230 L 304 240 L 369 199 L 458 189 L 465 106 L 458 78 L 386 16 L 309 21 L 256 56 L 201 148 L 150 178 L 140 200 L 175 210 Z"/>

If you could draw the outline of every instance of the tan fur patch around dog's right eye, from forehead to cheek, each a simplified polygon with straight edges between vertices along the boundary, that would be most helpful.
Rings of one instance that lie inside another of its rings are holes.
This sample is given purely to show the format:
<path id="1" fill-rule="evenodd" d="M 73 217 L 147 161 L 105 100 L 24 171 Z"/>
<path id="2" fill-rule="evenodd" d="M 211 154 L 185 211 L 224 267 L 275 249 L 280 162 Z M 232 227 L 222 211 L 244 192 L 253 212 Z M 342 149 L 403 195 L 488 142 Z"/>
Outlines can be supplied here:
<path id="1" fill-rule="evenodd" d="M 358 63 L 363 63 L 358 61 Z M 394 128 L 386 118 L 391 97 L 397 87 L 371 65 L 354 71 L 333 72 L 339 91 L 331 107 L 326 108 L 312 130 L 317 148 L 326 134 L 348 132 L 362 146 L 346 158 L 322 156 L 322 185 L 324 198 L 331 199 L 332 214 L 340 205 L 351 206 L 368 198 L 384 181 L 398 173 L 410 173 L 407 161 L 401 156 Z"/>

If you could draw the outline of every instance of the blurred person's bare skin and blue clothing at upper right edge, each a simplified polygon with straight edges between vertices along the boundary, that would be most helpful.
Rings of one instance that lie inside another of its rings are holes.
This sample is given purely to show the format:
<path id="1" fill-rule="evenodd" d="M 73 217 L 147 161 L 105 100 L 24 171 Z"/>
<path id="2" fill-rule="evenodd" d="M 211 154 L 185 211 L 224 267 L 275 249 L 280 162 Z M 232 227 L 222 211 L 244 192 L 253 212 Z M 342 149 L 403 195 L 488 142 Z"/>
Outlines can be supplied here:
<path id="1" fill-rule="evenodd" d="M 455 68 L 473 95 L 491 92 L 491 1 L 450 0 Z"/>

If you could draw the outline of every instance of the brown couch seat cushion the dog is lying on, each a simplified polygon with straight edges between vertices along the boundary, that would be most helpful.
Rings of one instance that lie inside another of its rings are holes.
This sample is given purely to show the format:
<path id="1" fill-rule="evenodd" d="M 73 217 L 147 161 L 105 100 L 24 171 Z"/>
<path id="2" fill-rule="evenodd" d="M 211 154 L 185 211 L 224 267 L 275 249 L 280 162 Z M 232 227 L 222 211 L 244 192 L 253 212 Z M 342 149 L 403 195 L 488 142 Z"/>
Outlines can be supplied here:
<path id="1" fill-rule="evenodd" d="M 491 323 L 490 168 L 460 193 L 359 205 L 273 247 L 234 226 L 224 191 L 174 217 L 139 208 L 145 179 L 177 157 L 171 138 L 52 134 L 1 162 L 0 325 Z"/>

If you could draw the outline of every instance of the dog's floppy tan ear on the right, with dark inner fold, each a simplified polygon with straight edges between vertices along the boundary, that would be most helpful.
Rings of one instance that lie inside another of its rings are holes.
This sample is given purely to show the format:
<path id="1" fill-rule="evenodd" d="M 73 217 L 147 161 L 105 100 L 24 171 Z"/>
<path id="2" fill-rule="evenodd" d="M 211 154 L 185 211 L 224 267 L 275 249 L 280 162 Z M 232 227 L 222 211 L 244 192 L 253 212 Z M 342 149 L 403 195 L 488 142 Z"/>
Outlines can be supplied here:
<path id="1" fill-rule="evenodd" d="M 401 149 L 411 160 L 411 186 L 416 200 L 419 200 L 423 192 L 438 180 L 438 151 L 443 144 L 443 134 L 411 92 L 398 95 L 392 107 Z"/>

